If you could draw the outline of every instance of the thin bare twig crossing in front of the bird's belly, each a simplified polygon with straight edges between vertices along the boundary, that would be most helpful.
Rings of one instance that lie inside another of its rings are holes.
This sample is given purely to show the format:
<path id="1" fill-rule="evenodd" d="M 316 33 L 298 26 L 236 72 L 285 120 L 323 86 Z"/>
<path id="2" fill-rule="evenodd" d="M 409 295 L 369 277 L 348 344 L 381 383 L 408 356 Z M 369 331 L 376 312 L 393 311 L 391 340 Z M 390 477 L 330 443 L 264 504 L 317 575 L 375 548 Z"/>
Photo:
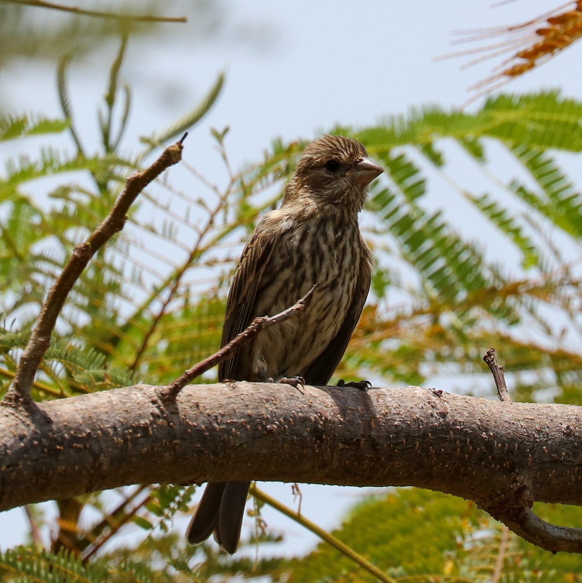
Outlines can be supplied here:
<path id="1" fill-rule="evenodd" d="M 311 289 L 299 300 L 296 304 L 292 305 L 287 310 L 283 310 L 279 314 L 274 316 L 263 316 L 260 318 L 255 318 L 251 325 L 248 326 L 244 331 L 242 331 L 236 338 L 232 339 L 226 346 L 223 346 L 220 350 L 209 356 L 207 359 L 200 361 L 195 364 L 192 368 L 189 368 L 185 373 L 181 374 L 171 385 L 167 385 L 160 392 L 160 398 L 174 400 L 178 393 L 196 377 L 201 374 L 206 373 L 213 366 L 221 363 L 232 356 L 232 354 L 238 352 L 241 346 L 245 345 L 249 340 L 255 338 L 255 336 L 265 328 L 270 328 L 275 324 L 280 324 L 285 320 L 296 317 L 299 312 L 305 310 L 311 301 L 313 291 L 318 284 L 315 284 Z"/>

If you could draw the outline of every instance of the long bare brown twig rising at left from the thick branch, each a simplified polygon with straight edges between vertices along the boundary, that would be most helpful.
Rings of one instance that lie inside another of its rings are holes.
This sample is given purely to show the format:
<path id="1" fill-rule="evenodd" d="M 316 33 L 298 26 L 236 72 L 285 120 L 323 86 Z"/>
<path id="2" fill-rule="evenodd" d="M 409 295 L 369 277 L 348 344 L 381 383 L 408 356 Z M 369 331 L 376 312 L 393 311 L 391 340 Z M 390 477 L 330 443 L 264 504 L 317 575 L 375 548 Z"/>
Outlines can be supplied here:
<path id="1" fill-rule="evenodd" d="M 119 195 L 107 217 L 91 233 L 85 243 L 80 243 L 75 247 L 61 275 L 58 276 L 48 292 L 29 343 L 26 345 L 22 357 L 20 357 L 16 375 L 10 390 L 4 398 L 4 404 L 15 405 L 20 402 L 29 406 L 33 405 L 30 389 L 34 381 L 34 375 L 50 345 L 52 331 L 70 290 L 72 290 L 91 257 L 115 233 L 123 229 L 126 213 L 137 195 L 166 168 L 178 163 L 182 157 L 182 147 L 184 147 L 182 141 L 184 141 L 185 137 L 186 134 L 178 142 L 168 146 L 149 168 L 133 173 L 128 178 L 123 192 Z"/>

